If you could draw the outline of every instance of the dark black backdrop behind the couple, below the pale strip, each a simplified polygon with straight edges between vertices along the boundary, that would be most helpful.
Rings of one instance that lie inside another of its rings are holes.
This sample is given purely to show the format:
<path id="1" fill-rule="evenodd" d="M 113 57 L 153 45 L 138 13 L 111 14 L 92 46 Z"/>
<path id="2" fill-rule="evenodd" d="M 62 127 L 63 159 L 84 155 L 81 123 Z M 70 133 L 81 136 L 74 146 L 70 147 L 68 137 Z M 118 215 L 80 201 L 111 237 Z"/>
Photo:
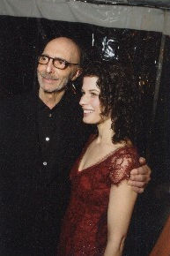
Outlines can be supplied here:
<path id="1" fill-rule="evenodd" d="M 137 201 L 124 254 L 148 255 L 170 212 L 166 191 L 170 183 L 170 38 L 166 36 L 159 98 L 153 117 L 161 33 L 0 16 L 0 99 L 33 90 L 38 54 L 47 41 L 61 35 L 75 39 L 87 52 L 92 47 L 97 49 L 97 54 L 106 60 L 115 58 L 131 64 L 143 87 L 145 125 L 141 154 L 152 168 L 152 182 Z"/>

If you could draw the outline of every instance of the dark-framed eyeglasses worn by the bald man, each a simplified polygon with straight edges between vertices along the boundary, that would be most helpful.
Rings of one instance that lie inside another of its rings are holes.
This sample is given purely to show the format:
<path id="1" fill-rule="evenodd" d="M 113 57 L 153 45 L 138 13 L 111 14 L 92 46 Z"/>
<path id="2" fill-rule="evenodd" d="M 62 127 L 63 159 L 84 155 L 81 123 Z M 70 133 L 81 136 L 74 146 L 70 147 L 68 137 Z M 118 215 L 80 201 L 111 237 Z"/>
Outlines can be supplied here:
<path id="1" fill-rule="evenodd" d="M 39 64 L 48 64 L 49 60 L 53 60 L 53 65 L 55 68 L 64 70 L 70 65 L 79 65 L 75 63 L 69 63 L 66 60 L 59 58 L 59 57 L 51 57 L 51 56 L 46 56 L 46 55 L 41 55 L 38 57 L 38 63 Z"/>

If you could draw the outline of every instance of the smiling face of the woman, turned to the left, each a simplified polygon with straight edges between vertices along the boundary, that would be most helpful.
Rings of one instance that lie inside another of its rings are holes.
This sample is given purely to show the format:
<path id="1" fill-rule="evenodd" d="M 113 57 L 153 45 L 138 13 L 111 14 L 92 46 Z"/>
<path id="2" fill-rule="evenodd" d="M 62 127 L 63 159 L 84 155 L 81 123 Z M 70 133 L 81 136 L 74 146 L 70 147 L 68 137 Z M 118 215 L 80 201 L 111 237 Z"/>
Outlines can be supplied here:
<path id="1" fill-rule="evenodd" d="M 85 124 L 100 124 L 100 88 L 97 87 L 97 77 L 85 77 L 83 79 L 82 97 L 79 104 L 84 111 Z"/>

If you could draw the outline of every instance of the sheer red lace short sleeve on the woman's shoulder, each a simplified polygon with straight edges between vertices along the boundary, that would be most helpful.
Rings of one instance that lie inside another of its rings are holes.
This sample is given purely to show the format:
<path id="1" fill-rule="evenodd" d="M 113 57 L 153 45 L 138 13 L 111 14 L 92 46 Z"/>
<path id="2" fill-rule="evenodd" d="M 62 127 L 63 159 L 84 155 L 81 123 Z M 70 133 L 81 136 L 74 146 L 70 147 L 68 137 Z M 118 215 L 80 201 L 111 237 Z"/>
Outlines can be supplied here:
<path id="1" fill-rule="evenodd" d="M 109 178 L 112 184 L 119 184 L 124 179 L 129 179 L 131 169 L 140 166 L 139 156 L 134 147 L 118 150 L 111 159 Z"/>

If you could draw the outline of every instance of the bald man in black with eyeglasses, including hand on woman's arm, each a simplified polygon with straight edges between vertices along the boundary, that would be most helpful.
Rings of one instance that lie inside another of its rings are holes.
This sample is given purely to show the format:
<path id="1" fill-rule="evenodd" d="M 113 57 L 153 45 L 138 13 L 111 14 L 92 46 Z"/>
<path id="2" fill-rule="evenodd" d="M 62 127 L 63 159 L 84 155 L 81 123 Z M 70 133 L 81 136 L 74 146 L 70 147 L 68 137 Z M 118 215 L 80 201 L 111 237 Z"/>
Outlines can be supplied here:
<path id="1" fill-rule="evenodd" d="M 82 124 L 80 49 L 69 38 L 49 41 L 38 58 L 39 92 L 1 102 L 0 255 L 53 256 L 70 195 L 69 170 L 92 132 Z M 139 173 L 139 174 L 138 174 Z M 150 179 L 134 169 L 138 192 Z"/>

